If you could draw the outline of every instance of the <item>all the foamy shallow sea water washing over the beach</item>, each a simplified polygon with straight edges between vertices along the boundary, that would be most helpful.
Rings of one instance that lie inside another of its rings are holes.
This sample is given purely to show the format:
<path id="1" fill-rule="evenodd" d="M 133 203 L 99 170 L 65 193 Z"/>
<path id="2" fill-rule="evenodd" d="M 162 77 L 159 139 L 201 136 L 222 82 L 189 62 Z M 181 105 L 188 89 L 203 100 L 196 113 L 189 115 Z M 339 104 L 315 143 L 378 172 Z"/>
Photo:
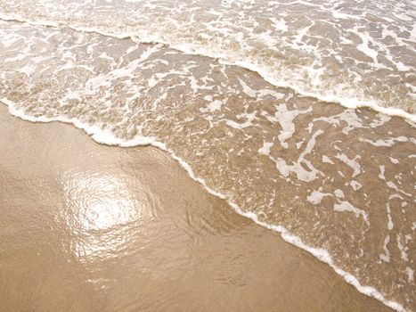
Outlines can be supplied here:
<path id="1" fill-rule="evenodd" d="M 416 4 L 2 1 L 0 100 L 153 144 L 232 209 L 416 310 Z"/>

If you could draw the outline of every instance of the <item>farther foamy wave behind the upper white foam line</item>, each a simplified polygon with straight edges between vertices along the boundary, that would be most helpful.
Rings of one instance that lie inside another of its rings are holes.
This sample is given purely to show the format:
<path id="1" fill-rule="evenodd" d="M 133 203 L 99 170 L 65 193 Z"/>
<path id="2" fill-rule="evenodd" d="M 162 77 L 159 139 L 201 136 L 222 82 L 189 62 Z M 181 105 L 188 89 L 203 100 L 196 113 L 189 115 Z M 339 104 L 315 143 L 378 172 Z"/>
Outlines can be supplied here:
<path id="1" fill-rule="evenodd" d="M 321 101 L 416 120 L 412 2 L 5 1 L 0 12 L 4 20 L 162 43 Z"/>

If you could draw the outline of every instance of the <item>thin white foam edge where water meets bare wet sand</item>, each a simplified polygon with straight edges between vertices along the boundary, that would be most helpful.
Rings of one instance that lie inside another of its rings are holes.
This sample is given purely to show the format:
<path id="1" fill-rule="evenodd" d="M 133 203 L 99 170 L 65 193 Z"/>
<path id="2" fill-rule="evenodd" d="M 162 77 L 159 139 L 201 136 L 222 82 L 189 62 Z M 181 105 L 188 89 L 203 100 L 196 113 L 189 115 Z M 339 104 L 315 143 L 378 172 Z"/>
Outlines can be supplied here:
<path id="1" fill-rule="evenodd" d="M 257 225 L 259 225 L 259 226 L 264 226 L 265 228 L 268 228 L 272 231 L 280 233 L 281 238 L 283 238 L 283 240 L 285 240 L 286 242 L 289 242 L 289 243 L 297 246 L 298 248 L 300 248 L 302 250 L 306 250 L 307 252 L 311 253 L 315 258 L 321 260 L 324 263 L 327 263 L 338 275 L 341 275 L 347 283 L 352 284 L 357 289 L 357 291 L 360 291 L 360 292 L 366 294 L 367 296 L 373 297 L 373 298 L 381 301 L 387 307 L 393 308 L 396 311 L 399 311 L 399 312 L 405 312 L 406 311 L 400 303 L 398 303 L 396 301 L 393 301 L 393 300 L 387 300 L 374 287 L 362 285 L 354 275 L 352 275 L 352 274 L 348 273 L 347 271 L 337 267 L 334 264 L 334 261 L 333 261 L 332 257 L 330 256 L 330 253 L 328 252 L 328 250 L 308 246 L 308 245 L 306 245 L 306 243 L 302 242 L 300 237 L 298 237 L 296 235 L 293 235 L 293 234 L 290 234 L 290 232 L 285 227 L 270 225 L 268 223 L 265 223 L 264 221 L 260 221 L 258 219 L 258 216 L 254 212 L 243 211 L 240 208 L 240 206 L 238 206 L 236 203 L 231 201 L 229 196 L 227 196 L 223 193 L 216 192 L 215 190 L 210 188 L 207 185 L 205 180 L 203 180 L 202 178 L 197 177 L 195 175 L 191 166 L 189 166 L 184 160 L 182 160 L 181 158 L 176 156 L 175 152 L 170 150 L 167 147 L 166 144 L 163 144 L 163 143 L 157 141 L 157 139 L 155 139 L 153 137 L 147 137 L 147 136 L 138 136 L 133 140 L 126 141 L 126 140 L 122 140 L 122 139 L 119 139 L 119 138 L 115 137 L 112 133 L 110 133 L 110 131 L 103 130 L 100 127 L 88 126 L 88 125 L 83 124 L 82 122 L 78 121 L 77 119 L 68 119 L 68 118 L 64 118 L 64 117 L 56 117 L 56 118 L 53 118 L 53 119 L 46 118 L 46 117 L 33 117 L 33 116 L 29 116 L 29 115 L 25 114 L 24 111 L 17 110 L 15 108 L 15 106 L 16 106 L 15 103 L 13 103 L 12 101 L 10 101 L 6 98 L 0 99 L 0 102 L 4 103 L 8 107 L 10 113 L 13 116 L 19 117 L 20 119 L 24 119 L 24 120 L 28 120 L 28 121 L 32 121 L 32 122 L 61 121 L 61 122 L 64 122 L 64 123 L 73 124 L 75 127 L 83 129 L 84 131 L 86 131 L 86 133 L 88 135 L 91 135 L 91 137 L 94 139 L 94 141 L 96 141 L 97 143 L 100 143 L 100 144 L 118 145 L 118 146 L 121 146 L 121 147 L 133 147 L 133 146 L 139 146 L 139 145 L 152 145 L 152 146 L 158 147 L 162 151 L 168 152 L 174 160 L 179 162 L 179 164 L 186 170 L 186 172 L 189 174 L 190 177 L 192 177 L 193 180 L 195 180 L 195 181 L 199 182 L 201 185 L 203 185 L 208 193 L 211 193 L 212 195 L 215 195 L 218 198 L 226 200 L 229 203 L 229 205 L 232 207 L 232 209 L 234 209 L 238 214 L 240 214 L 241 216 L 244 216 L 246 218 L 250 218 L 255 223 L 257 223 Z M 416 228 L 416 223 L 413 224 L 413 227 Z"/>

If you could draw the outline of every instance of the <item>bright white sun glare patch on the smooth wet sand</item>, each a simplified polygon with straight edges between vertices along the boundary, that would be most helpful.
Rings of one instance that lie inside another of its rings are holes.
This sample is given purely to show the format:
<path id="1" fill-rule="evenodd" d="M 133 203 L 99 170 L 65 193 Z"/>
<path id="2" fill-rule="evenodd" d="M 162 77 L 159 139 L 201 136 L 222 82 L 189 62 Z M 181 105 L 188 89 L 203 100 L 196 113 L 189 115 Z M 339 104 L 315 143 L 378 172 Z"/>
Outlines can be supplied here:
<path id="1" fill-rule="evenodd" d="M 80 261 L 112 259 L 140 231 L 146 199 L 138 201 L 122 177 L 96 173 L 65 178 L 64 219 Z"/>

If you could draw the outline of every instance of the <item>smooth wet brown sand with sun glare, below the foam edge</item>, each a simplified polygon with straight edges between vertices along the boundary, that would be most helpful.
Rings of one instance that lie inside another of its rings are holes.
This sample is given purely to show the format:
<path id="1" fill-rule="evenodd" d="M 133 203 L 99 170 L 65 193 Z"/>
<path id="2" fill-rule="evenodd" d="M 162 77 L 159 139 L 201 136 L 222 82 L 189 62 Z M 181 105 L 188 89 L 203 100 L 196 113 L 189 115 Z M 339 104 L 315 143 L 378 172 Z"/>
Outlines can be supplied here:
<path id="1" fill-rule="evenodd" d="M 166 152 L 0 105 L 1 311 L 389 311 Z"/>

